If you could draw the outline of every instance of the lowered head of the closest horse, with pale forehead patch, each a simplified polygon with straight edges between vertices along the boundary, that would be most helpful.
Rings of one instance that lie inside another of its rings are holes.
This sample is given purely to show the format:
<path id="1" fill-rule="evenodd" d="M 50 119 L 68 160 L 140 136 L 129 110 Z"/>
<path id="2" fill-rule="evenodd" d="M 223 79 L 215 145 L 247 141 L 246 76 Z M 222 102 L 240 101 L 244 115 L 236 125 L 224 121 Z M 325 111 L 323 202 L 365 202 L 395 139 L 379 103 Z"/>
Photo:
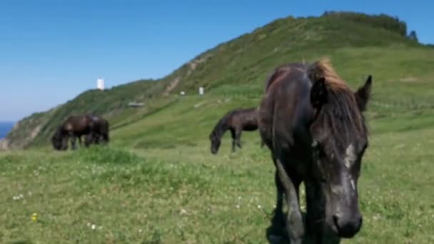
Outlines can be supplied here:
<path id="1" fill-rule="evenodd" d="M 311 87 L 313 164 L 325 195 L 325 221 L 343 238 L 361 228 L 358 206 L 360 165 L 368 147 L 362 112 L 370 96 L 371 76 L 358 91 L 318 78 Z"/>

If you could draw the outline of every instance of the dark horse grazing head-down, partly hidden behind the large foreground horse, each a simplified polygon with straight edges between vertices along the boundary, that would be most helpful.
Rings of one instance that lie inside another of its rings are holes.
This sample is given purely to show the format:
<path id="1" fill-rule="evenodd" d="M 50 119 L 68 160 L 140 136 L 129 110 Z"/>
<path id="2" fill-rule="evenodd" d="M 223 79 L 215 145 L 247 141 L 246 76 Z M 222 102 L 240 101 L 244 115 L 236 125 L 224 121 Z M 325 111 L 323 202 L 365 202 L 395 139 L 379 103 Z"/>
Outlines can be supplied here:
<path id="1" fill-rule="evenodd" d="M 236 108 L 226 113 L 214 126 L 209 135 L 211 153 L 216 154 L 221 145 L 221 137 L 226 131 L 231 131 L 232 151 L 235 146 L 241 148 L 241 131 L 256 131 L 258 129 L 258 108 Z M 261 147 L 263 143 L 261 143 Z"/>

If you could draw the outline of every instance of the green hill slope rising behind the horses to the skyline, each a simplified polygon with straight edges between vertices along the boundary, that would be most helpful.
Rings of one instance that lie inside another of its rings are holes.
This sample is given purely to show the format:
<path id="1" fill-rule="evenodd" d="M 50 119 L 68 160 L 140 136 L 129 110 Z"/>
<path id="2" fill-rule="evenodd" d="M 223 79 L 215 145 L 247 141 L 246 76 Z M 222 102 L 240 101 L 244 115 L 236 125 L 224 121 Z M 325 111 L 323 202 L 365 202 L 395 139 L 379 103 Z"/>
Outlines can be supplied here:
<path id="1" fill-rule="evenodd" d="M 428 86 L 434 53 L 408 39 L 405 32 L 405 23 L 388 16 L 327 13 L 318 18 L 278 19 L 205 51 L 161 80 L 136 81 L 104 92 L 86 91 L 57 108 L 24 118 L 0 148 L 44 145 L 54 128 L 73 113 L 98 113 L 109 118 L 112 128 L 119 128 L 176 102 L 173 94 L 179 91 L 196 93 L 198 86 L 213 96 L 258 98 L 273 68 L 320 56 L 330 56 L 352 86 L 373 74 L 378 101 L 403 102 L 405 96 L 412 102 L 415 94 Z M 392 83 L 396 87 L 390 86 Z M 418 96 L 418 103 L 430 106 L 430 95 Z M 130 101 L 146 106 L 128 108 Z"/>

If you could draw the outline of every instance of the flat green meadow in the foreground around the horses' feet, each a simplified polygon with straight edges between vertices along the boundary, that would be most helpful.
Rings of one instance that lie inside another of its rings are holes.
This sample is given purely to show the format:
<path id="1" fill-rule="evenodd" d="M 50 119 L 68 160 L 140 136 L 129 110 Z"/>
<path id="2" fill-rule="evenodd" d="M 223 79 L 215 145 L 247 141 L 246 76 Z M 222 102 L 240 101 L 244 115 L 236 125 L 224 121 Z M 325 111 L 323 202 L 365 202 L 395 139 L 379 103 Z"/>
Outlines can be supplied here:
<path id="1" fill-rule="evenodd" d="M 266 243 L 275 204 L 268 150 L 257 132 L 243 133 L 236 153 L 228 134 L 216 156 L 208 143 L 223 111 L 255 103 L 187 96 L 114 130 L 107 147 L 0 153 L 0 243 Z M 364 224 L 343 243 L 432 243 L 433 111 L 372 107 L 367 116 Z"/>

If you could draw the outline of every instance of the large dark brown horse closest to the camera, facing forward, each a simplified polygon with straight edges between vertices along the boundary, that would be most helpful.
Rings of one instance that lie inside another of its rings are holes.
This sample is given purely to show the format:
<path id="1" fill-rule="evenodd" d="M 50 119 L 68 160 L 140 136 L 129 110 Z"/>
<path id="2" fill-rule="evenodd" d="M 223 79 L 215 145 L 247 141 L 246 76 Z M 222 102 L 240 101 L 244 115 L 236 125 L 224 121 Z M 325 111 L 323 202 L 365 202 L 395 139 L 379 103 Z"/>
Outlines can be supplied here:
<path id="1" fill-rule="evenodd" d="M 258 130 L 276 166 L 277 199 L 269 230 L 285 223 L 285 195 L 291 243 L 301 243 L 305 234 L 321 243 L 325 227 L 337 238 L 358 233 L 362 215 L 357 186 L 368 147 L 363 111 L 371 83 L 368 76 L 364 86 L 351 91 L 327 59 L 286 64 L 268 78 Z M 306 227 L 298 201 L 302 181 L 306 186 Z"/>

